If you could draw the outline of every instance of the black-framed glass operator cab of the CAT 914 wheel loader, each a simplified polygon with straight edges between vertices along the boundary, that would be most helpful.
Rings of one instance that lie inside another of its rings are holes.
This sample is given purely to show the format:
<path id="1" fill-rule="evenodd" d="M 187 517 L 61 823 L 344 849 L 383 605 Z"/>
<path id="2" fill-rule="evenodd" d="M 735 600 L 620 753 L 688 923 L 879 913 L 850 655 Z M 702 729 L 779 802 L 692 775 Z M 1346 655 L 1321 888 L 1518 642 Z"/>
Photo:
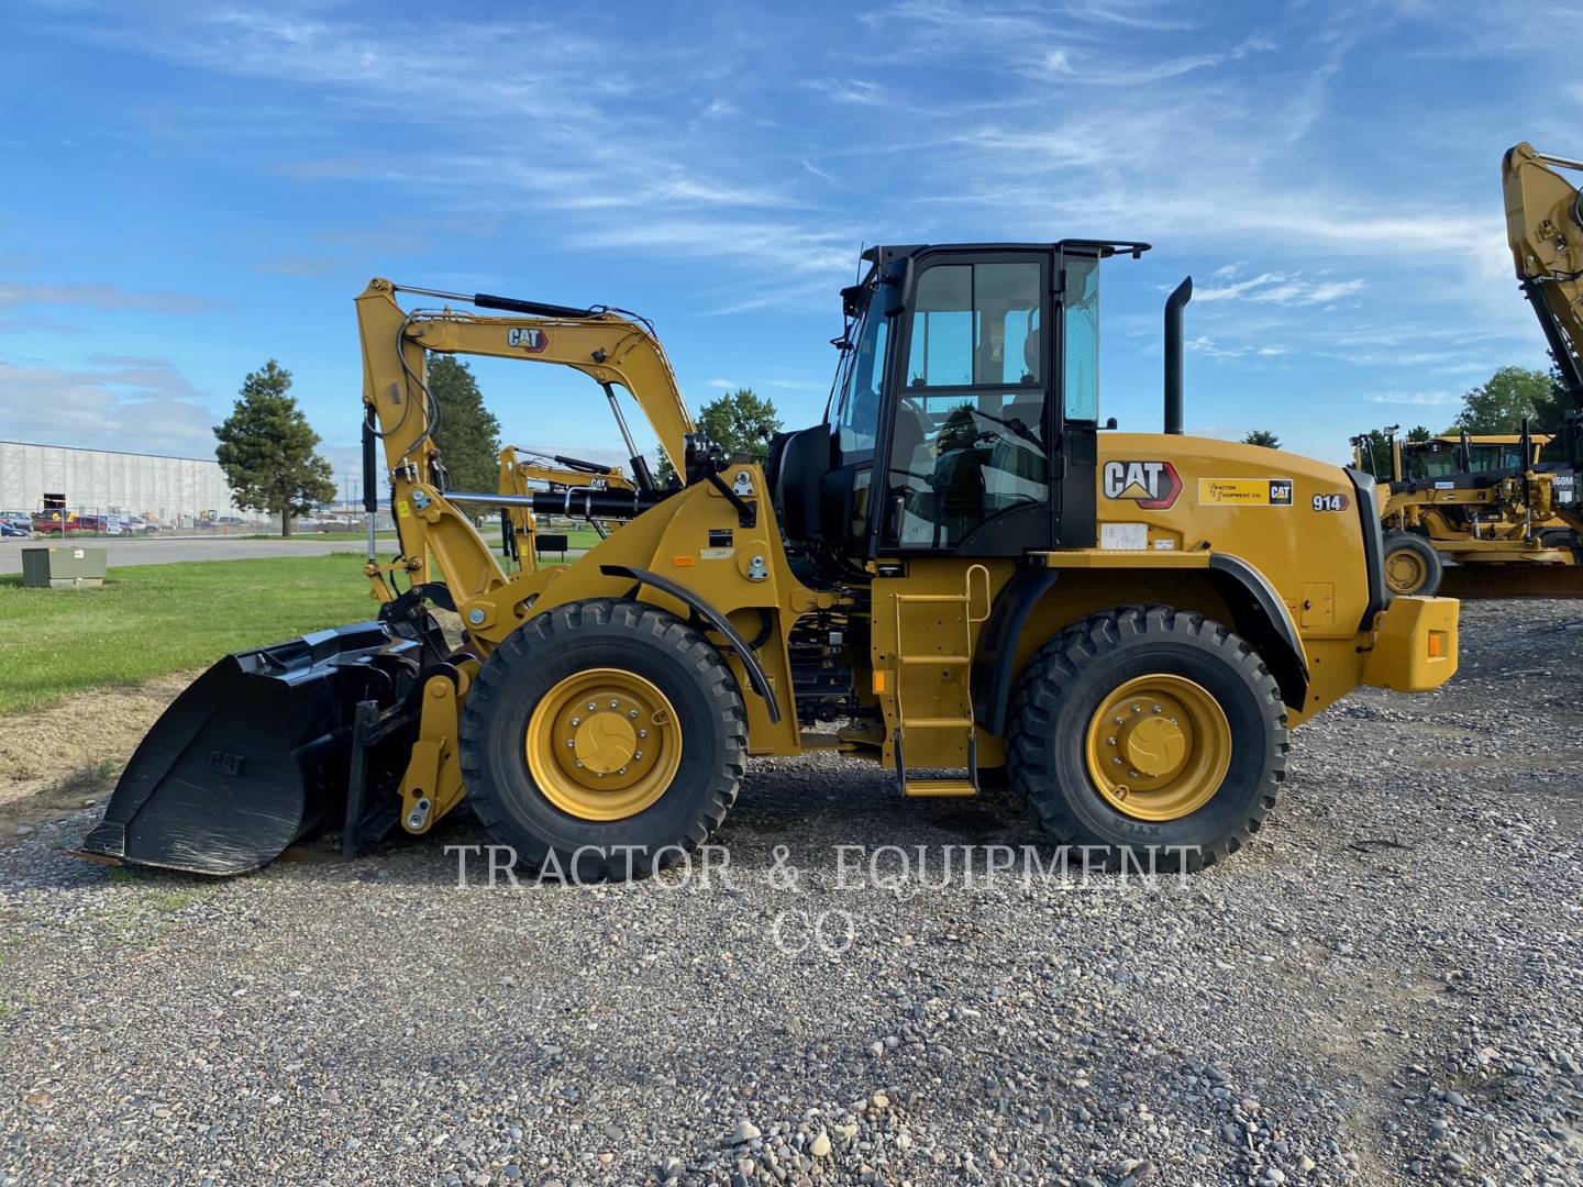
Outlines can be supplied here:
<path id="1" fill-rule="evenodd" d="M 1148 244 L 864 252 L 826 423 L 771 454 L 788 541 L 864 557 L 1092 548 L 1099 274 L 1118 250 Z"/>

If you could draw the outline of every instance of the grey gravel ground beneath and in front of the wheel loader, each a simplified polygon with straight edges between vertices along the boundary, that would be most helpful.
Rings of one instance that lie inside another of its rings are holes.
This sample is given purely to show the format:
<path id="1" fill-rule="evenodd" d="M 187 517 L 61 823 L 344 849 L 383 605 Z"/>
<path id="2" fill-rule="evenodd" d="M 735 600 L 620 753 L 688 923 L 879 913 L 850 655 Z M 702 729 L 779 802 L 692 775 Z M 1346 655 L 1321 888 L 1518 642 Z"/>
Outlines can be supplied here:
<path id="1" fill-rule="evenodd" d="M 470 821 L 198 882 L 43 825 L 0 851 L 0 1182 L 1583 1182 L 1583 606 L 1469 605 L 1463 655 L 1308 725 L 1186 883 L 964 888 L 1013 806 L 829 757 L 754 766 L 731 885 L 459 888 Z"/>

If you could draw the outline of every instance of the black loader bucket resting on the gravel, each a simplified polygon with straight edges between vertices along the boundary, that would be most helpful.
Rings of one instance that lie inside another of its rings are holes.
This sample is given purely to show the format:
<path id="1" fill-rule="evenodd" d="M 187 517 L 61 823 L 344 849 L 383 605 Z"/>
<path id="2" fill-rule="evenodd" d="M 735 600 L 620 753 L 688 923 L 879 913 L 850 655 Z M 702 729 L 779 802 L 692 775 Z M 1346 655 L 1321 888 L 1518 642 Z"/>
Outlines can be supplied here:
<path id="1" fill-rule="evenodd" d="M 138 745 L 82 856 L 242 874 L 340 825 L 358 704 L 405 733 L 426 643 L 432 620 L 364 622 L 226 655 Z"/>

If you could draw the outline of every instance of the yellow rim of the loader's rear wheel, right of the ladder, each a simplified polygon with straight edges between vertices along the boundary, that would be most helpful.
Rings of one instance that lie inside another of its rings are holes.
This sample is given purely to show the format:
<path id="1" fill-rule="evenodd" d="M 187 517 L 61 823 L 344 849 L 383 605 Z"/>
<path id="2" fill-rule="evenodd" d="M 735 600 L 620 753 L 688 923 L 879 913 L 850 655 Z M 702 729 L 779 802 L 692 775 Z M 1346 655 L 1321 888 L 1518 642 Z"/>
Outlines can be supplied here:
<path id="1" fill-rule="evenodd" d="M 1086 752 L 1089 777 L 1113 809 L 1135 820 L 1181 820 L 1225 782 L 1232 725 L 1201 685 L 1138 676 L 1094 711 Z"/>

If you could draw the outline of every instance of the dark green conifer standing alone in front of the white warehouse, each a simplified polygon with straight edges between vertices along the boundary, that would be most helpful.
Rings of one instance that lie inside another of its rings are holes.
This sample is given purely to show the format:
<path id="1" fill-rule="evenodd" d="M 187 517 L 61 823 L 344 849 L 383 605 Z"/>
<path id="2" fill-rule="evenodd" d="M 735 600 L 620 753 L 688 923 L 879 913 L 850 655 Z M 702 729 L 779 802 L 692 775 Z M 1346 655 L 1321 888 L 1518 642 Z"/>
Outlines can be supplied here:
<path id="1" fill-rule="evenodd" d="M 279 514 L 283 537 L 291 535 L 293 514 L 336 497 L 334 470 L 313 451 L 320 437 L 290 391 L 291 372 L 269 359 L 242 380 L 236 407 L 214 430 L 214 454 L 236 505 Z"/>

